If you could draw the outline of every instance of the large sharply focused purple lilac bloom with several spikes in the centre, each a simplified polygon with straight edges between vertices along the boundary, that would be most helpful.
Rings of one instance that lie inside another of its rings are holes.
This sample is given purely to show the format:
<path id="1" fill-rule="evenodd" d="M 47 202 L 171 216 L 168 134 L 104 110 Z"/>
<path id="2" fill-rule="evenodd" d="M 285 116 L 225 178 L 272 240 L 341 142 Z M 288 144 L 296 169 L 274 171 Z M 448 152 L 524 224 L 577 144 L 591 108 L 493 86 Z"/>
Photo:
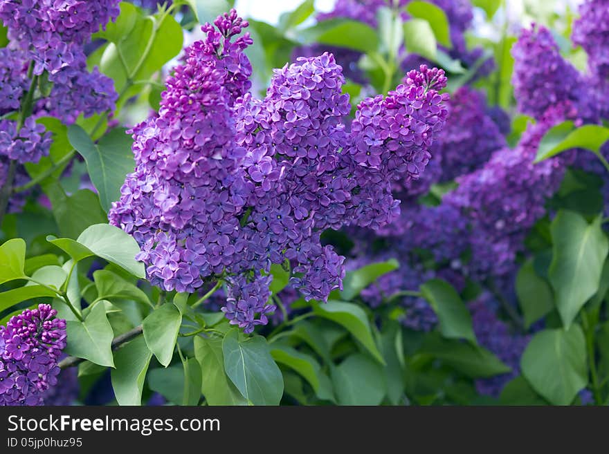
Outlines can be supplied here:
<path id="1" fill-rule="evenodd" d="M 327 53 L 275 70 L 257 100 L 251 39 L 234 39 L 246 26 L 231 10 L 186 50 L 158 117 L 132 131 L 136 171 L 109 218 L 138 240 L 154 285 L 194 292 L 226 279 L 223 310 L 251 332 L 275 309 L 272 263 L 291 263 L 306 299 L 340 287 L 344 257 L 320 234 L 396 218 L 392 181 L 419 178 L 447 113 L 444 72 L 422 66 L 388 97 L 364 100 L 348 132 L 344 77 Z"/>

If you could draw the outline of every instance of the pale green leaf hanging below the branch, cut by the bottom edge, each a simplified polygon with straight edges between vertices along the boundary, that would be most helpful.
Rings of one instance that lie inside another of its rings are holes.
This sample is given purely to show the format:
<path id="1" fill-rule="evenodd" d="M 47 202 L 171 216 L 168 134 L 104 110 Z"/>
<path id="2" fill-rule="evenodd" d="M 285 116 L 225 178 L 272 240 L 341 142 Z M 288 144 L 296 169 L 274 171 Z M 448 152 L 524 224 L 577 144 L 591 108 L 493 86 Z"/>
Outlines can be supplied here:
<path id="1" fill-rule="evenodd" d="M 116 369 L 111 371 L 111 380 L 118 405 L 142 404 L 142 390 L 151 358 L 152 353 L 141 337 L 116 350 Z"/>

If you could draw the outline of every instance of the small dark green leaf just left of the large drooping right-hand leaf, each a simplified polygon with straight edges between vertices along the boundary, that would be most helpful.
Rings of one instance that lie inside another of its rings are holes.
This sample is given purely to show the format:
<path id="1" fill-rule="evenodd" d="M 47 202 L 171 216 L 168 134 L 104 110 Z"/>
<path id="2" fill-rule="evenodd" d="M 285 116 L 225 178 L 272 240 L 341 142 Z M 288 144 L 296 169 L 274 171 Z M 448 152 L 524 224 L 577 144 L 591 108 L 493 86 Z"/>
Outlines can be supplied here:
<path id="1" fill-rule="evenodd" d="M 526 328 L 554 309 L 552 287 L 535 272 L 532 258 L 529 258 L 518 270 L 516 295 L 522 314 L 525 316 Z"/>

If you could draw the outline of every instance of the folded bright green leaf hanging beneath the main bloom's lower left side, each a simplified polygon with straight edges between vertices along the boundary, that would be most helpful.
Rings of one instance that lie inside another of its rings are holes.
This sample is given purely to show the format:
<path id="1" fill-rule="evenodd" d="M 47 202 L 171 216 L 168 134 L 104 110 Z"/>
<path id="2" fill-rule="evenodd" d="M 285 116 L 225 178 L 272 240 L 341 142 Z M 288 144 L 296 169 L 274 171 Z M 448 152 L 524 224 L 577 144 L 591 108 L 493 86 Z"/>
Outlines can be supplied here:
<path id="1" fill-rule="evenodd" d="M 142 323 L 148 348 L 165 367 L 172 360 L 181 324 L 182 314 L 172 303 L 150 312 Z"/>

